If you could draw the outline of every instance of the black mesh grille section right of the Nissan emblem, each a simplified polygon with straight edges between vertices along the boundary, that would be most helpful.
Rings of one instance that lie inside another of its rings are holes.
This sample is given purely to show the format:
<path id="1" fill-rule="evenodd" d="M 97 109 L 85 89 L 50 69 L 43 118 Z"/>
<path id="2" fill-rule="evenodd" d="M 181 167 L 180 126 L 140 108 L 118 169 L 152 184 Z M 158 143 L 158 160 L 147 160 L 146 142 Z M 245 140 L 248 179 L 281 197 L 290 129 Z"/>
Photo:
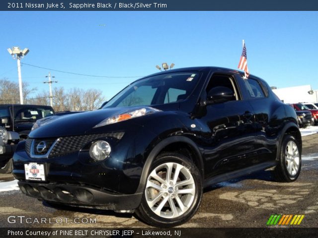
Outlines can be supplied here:
<path id="1" fill-rule="evenodd" d="M 124 132 L 112 132 L 103 134 L 91 134 L 91 135 L 75 135 L 60 137 L 50 152 L 49 158 L 62 156 L 79 151 L 89 141 L 103 138 L 113 137 L 120 140 L 124 135 Z"/>

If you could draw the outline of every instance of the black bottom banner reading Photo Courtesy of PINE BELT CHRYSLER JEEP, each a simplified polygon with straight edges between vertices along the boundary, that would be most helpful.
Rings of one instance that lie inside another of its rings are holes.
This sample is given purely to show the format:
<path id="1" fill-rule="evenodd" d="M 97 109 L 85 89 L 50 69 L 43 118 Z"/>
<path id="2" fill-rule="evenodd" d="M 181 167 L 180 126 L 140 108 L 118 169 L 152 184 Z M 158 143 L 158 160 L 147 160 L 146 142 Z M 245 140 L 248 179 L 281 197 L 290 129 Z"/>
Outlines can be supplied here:
<path id="1" fill-rule="evenodd" d="M 317 238 L 318 228 L 0 228 L 1 238 Z"/>

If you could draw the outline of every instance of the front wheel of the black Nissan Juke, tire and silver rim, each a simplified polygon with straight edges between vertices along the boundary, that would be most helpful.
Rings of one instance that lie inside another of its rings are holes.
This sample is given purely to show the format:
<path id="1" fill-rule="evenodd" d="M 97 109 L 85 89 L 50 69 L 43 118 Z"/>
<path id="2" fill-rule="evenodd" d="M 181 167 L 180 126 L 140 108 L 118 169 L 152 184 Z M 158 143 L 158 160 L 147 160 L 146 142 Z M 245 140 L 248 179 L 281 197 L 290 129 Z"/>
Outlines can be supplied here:
<path id="1" fill-rule="evenodd" d="M 169 179 L 168 171 L 171 171 Z M 160 154 L 151 166 L 136 215 L 151 226 L 178 226 L 196 213 L 202 190 L 202 176 L 191 160 L 177 153 Z"/>

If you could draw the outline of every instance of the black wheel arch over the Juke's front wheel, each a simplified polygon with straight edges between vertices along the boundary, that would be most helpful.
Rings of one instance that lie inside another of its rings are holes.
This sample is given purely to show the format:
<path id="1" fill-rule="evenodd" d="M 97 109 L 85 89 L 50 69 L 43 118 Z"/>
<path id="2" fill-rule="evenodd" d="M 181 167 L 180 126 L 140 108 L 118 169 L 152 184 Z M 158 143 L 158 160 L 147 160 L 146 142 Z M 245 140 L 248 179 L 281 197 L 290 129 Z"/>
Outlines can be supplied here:
<path id="1" fill-rule="evenodd" d="M 144 191 L 150 167 L 156 157 L 162 152 L 172 151 L 177 151 L 178 153 L 186 155 L 187 157 L 190 156 L 189 159 L 191 159 L 193 163 L 198 167 L 199 171 L 201 172 L 202 178 L 204 178 L 203 159 L 197 145 L 188 137 L 172 136 L 160 141 L 149 153 L 143 168 L 137 192 Z M 187 152 L 189 152 L 189 154 L 186 154 Z"/>

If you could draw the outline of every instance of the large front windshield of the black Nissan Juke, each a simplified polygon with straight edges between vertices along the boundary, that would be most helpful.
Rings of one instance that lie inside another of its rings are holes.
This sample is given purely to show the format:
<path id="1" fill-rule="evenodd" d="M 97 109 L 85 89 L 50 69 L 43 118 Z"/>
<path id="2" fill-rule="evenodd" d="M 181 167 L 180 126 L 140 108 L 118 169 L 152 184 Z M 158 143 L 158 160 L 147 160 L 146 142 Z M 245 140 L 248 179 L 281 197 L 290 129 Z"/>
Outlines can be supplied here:
<path id="1" fill-rule="evenodd" d="M 103 108 L 181 102 L 192 93 L 199 76 L 198 72 L 175 72 L 138 80 L 118 93 Z"/>

